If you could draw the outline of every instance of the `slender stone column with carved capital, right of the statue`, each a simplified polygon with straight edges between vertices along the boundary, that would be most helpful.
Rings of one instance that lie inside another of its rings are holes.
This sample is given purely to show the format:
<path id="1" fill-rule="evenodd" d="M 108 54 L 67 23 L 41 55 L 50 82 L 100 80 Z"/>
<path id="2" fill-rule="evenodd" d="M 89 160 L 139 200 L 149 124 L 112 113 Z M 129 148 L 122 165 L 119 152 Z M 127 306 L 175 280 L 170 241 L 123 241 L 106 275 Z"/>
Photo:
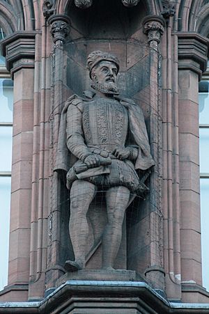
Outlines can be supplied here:
<path id="1" fill-rule="evenodd" d="M 144 33 L 148 36 L 150 47 L 150 147 L 155 167 L 150 177 L 150 265 L 146 269 L 146 278 L 155 288 L 164 290 L 164 269 L 162 257 L 162 206 L 161 180 L 162 155 L 161 108 L 159 102 L 158 45 L 164 33 L 164 19 L 152 15 L 144 19 Z"/>

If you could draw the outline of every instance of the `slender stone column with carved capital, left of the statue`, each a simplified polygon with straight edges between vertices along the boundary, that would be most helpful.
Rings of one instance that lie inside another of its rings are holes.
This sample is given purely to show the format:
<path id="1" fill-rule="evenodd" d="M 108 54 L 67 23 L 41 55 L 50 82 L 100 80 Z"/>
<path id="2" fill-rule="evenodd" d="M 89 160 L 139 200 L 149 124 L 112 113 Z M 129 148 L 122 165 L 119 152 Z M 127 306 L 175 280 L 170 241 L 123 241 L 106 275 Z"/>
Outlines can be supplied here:
<path id="1" fill-rule="evenodd" d="M 47 288 L 54 286 L 56 279 L 63 274 L 60 266 L 61 252 L 61 182 L 53 172 L 56 145 L 59 134 L 61 110 L 66 100 L 63 86 L 65 68 L 64 43 L 70 31 L 70 20 L 66 15 L 52 15 L 48 19 L 54 42 L 52 52 L 51 107 L 50 112 L 50 212 L 49 212 L 49 250 L 47 260 Z M 66 197 L 67 198 L 67 197 Z"/>

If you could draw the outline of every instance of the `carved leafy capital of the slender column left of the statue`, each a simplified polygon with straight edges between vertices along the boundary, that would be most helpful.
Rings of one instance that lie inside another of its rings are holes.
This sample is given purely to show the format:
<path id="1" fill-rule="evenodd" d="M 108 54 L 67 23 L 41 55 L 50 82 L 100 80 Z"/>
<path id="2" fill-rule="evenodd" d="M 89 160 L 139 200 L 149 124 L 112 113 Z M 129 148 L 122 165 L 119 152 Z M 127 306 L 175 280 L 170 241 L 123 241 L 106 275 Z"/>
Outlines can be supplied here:
<path id="1" fill-rule="evenodd" d="M 70 32 L 70 19 L 67 15 L 52 15 L 48 19 L 49 25 L 51 26 L 51 34 L 54 38 L 54 42 L 61 40 L 65 42 L 65 38 Z"/>

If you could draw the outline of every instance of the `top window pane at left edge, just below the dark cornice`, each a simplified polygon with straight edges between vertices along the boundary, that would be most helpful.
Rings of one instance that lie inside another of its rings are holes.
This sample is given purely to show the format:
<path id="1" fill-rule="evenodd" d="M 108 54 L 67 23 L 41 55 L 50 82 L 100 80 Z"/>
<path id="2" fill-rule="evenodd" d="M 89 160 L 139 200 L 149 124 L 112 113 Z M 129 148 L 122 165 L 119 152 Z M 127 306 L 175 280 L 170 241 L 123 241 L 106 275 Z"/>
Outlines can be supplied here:
<path id="1" fill-rule="evenodd" d="M 0 123 L 13 122 L 13 81 L 0 79 Z"/>

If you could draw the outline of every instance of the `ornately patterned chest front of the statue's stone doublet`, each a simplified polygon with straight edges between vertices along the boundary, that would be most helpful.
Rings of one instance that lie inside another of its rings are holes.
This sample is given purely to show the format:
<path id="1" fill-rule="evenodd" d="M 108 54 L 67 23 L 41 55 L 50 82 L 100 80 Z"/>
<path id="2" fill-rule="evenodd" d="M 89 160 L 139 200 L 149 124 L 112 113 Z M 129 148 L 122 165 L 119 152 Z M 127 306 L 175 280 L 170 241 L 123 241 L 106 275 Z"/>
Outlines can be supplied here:
<path id="1" fill-rule="evenodd" d="M 86 145 L 113 152 L 125 147 L 127 137 L 127 109 L 117 100 L 95 99 L 85 104 L 82 115 Z"/>

